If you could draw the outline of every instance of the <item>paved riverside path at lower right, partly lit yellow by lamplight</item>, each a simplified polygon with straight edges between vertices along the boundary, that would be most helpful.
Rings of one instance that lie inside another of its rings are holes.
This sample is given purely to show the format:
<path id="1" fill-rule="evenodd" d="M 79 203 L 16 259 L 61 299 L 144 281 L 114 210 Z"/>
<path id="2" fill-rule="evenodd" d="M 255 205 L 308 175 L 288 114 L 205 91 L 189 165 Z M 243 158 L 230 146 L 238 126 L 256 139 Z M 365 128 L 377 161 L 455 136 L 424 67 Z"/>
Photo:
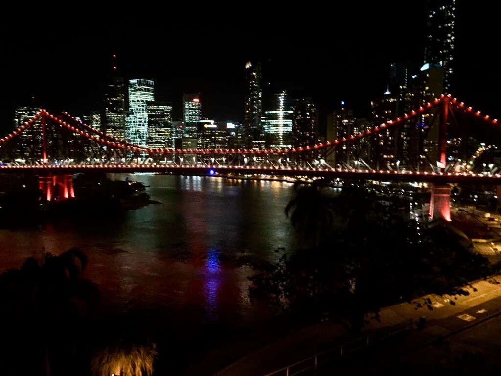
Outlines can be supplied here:
<path id="1" fill-rule="evenodd" d="M 400 350 L 423 345 L 454 330 L 470 325 L 475 320 L 501 312 L 501 275 L 464 286 L 468 295 L 427 295 L 411 303 L 401 303 L 381 309 L 379 320 L 372 319 L 363 329 L 364 335 L 401 324 L 406 320 L 427 326 L 413 334 Z M 417 302 L 428 305 L 416 308 Z M 485 305 L 485 307 L 480 307 Z M 307 327 L 274 343 L 257 349 L 217 372 L 216 376 L 259 376 L 296 363 L 319 352 L 319 348 L 340 346 L 349 339 L 346 329 L 329 321 Z M 384 358 L 381 358 L 382 360 Z"/>

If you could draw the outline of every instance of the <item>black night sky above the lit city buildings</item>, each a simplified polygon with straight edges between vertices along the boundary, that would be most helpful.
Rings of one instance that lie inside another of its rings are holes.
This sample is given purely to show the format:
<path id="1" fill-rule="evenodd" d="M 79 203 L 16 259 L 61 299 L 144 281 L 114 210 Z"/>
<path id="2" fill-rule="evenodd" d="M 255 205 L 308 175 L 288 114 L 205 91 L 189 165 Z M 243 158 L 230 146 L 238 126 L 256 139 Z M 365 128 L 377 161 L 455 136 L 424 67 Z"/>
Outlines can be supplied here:
<path id="1" fill-rule="evenodd" d="M 496 14 L 481 1 L 458 3 L 452 94 L 499 117 Z M 464 3 L 476 8 L 461 8 Z M 341 100 L 356 115 L 369 116 L 370 100 L 386 89 L 391 62 L 409 61 L 416 69 L 423 63 L 423 0 L 325 9 L 280 3 L 287 8 L 282 12 L 279 3 L 252 12 L 251 3 L 221 10 L 185 4 L 119 14 L 4 13 L 1 133 L 12 129 L 20 105 L 76 115 L 97 108 L 112 54 L 126 79 L 155 81 L 155 97 L 172 102 L 174 120 L 181 117 L 182 93 L 193 91 L 201 93 L 203 116 L 242 121 L 247 60 L 263 63 L 264 109 L 273 93 L 287 89 L 312 97 L 321 119 Z"/>

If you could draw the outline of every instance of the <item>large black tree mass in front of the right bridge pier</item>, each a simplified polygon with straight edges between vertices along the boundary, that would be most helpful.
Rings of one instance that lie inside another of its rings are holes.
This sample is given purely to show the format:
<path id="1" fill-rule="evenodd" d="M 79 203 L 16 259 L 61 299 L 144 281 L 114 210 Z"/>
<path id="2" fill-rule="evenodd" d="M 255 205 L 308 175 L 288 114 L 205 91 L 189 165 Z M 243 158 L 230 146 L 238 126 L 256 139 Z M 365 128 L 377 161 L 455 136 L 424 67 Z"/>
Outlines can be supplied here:
<path id="1" fill-rule="evenodd" d="M 367 313 L 377 317 L 382 307 L 428 293 L 467 294 L 457 286 L 498 269 L 445 225 L 411 221 L 408 202 L 384 202 L 364 189 L 321 196 L 302 187 L 287 207 L 295 228 L 316 241 L 294 254 L 281 250 L 279 261 L 250 277 L 250 297 L 275 312 L 329 317 L 358 330 Z"/>

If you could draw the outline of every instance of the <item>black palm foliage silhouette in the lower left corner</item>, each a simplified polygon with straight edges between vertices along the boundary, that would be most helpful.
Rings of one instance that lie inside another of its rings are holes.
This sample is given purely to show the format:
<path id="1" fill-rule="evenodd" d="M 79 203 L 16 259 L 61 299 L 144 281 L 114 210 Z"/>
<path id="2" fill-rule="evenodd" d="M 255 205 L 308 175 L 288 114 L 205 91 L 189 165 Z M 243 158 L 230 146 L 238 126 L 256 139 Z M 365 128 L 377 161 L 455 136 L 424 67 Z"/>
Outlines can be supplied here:
<path id="1" fill-rule="evenodd" d="M 75 364 L 86 356 L 81 344 L 99 298 L 97 287 L 81 278 L 86 266 L 85 253 L 73 248 L 0 274 L 2 374 L 85 374 Z"/>

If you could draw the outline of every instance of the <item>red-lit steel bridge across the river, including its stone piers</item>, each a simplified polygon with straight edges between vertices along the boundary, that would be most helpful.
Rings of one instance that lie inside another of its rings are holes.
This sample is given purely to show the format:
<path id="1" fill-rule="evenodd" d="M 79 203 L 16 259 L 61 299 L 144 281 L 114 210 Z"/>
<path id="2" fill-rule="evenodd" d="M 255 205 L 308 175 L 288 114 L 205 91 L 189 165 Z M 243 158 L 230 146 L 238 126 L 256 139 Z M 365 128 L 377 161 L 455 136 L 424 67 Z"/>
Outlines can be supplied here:
<path id="1" fill-rule="evenodd" d="M 178 150 L 132 144 L 67 112 L 55 115 L 41 109 L 0 139 L 0 173 L 36 174 L 48 201 L 75 197 L 72 176 L 86 171 L 421 181 L 432 184 L 430 218 L 450 221 L 447 183 L 501 185 L 501 162 L 485 150 L 472 153 L 468 148 L 468 131 L 477 130 L 472 124 L 478 123 L 487 133 L 499 131 L 497 119 L 442 95 L 394 120 L 325 143 L 290 149 Z M 448 135 L 454 132 L 459 152 L 447 158 Z M 401 147 L 405 139 L 412 142 L 407 150 Z"/>

